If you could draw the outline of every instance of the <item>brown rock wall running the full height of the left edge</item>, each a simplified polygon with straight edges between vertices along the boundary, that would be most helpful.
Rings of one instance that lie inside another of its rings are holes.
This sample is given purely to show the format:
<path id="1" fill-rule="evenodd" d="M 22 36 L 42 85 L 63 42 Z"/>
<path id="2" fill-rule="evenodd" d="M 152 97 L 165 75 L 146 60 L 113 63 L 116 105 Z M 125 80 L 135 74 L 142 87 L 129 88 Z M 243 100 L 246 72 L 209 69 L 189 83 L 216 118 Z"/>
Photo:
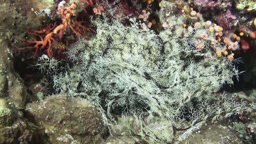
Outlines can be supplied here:
<path id="1" fill-rule="evenodd" d="M 37 126 L 21 110 L 30 99 L 24 81 L 15 72 L 11 48 L 25 38 L 25 28 L 42 26 L 42 17 L 30 12 L 40 1 L 0 1 L 0 143 L 44 143 Z"/>

